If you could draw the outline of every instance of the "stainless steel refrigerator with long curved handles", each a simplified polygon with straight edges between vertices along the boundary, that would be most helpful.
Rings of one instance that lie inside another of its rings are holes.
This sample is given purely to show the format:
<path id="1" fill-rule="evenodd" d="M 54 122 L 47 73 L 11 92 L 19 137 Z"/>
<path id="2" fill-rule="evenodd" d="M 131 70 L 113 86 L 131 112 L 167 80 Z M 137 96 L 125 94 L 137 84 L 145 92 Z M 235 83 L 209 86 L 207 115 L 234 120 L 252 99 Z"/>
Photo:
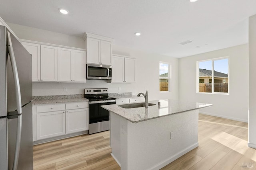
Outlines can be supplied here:
<path id="1" fill-rule="evenodd" d="M 0 169 L 32 170 L 32 57 L 0 25 Z"/>

